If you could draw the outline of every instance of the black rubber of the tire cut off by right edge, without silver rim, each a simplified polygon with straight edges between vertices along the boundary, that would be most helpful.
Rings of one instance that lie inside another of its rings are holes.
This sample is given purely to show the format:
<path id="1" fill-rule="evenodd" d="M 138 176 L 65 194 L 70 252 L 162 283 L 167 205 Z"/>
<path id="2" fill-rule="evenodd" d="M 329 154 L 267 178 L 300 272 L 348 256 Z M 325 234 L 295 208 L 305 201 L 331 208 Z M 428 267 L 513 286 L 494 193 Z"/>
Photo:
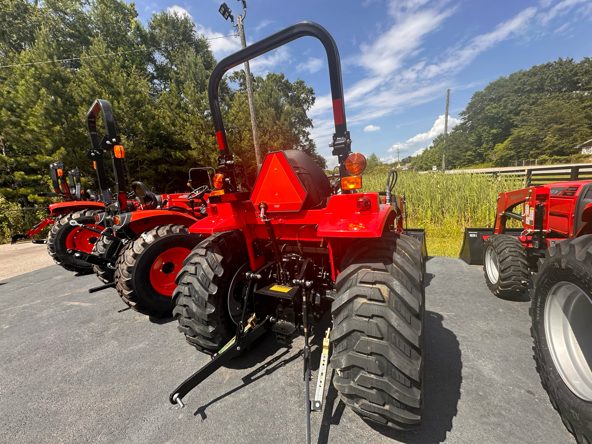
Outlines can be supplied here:
<path id="1" fill-rule="evenodd" d="M 557 282 L 572 282 L 592 295 L 592 234 L 567 239 L 549 247 L 545 259 L 539 259 L 538 268 L 531 291 L 530 333 L 535 342 L 540 382 L 578 444 L 591 444 L 592 403 L 574 395 L 556 370 L 546 340 L 543 315 L 547 295 Z"/>

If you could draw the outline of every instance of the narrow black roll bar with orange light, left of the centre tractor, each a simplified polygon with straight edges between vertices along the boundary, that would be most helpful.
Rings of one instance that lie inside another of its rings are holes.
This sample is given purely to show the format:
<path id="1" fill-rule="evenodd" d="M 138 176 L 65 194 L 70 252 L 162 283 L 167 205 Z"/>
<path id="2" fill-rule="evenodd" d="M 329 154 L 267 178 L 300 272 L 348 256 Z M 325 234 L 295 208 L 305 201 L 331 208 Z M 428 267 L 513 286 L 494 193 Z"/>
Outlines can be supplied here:
<path id="1" fill-rule="evenodd" d="M 105 134 L 99 141 L 99 136 L 96 131 L 96 117 L 99 112 L 103 114 L 103 120 L 105 121 Z M 102 163 L 102 150 L 111 152 L 111 161 L 113 163 L 113 172 L 115 173 L 115 185 L 117 186 L 117 201 L 118 209 L 120 211 L 126 211 L 127 207 L 127 192 L 126 192 L 126 179 L 123 173 L 123 163 L 119 157 L 115 156 L 115 146 L 121 144 L 121 137 L 117 135 L 115 128 L 115 119 L 113 112 L 111 111 L 111 105 L 109 102 L 103 99 L 96 99 L 86 113 L 86 123 L 88 124 L 88 134 L 91 137 L 92 149 L 86 154 L 86 157 L 96 162 L 96 173 L 99 176 L 99 187 L 101 188 L 101 194 L 103 195 L 103 202 L 105 209 L 111 204 L 111 196 L 108 191 L 107 178 L 105 178 L 105 169 Z M 100 159 L 97 156 L 101 153 Z M 97 162 L 97 160 L 100 161 Z M 99 169 L 99 165 L 101 169 Z"/>

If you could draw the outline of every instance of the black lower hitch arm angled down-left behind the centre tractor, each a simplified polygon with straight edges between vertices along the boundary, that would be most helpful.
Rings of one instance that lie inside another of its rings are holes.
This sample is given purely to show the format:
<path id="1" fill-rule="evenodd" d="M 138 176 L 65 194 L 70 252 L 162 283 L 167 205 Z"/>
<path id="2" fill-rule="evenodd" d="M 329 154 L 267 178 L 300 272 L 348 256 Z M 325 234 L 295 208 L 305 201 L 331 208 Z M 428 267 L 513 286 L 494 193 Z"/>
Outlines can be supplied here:
<path id="1" fill-rule="evenodd" d="M 254 325 L 254 321 L 256 320 L 254 315 L 249 319 L 249 323 L 247 323 L 247 326 L 244 327 L 243 337 L 241 339 L 243 348 L 249 346 L 253 341 L 258 339 L 263 333 L 269 330 L 270 317 L 271 315 L 268 315 L 263 319 L 262 322 L 256 325 Z M 234 356 L 239 353 L 240 350 L 237 350 L 237 347 L 234 347 L 235 340 L 236 336 L 233 337 L 223 348 L 221 348 L 218 353 L 215 353 L 214 356 L 212 356 L 212 360 L 210 362 L 192 374 L 189 378 L 185 379 L 185 381 L 179 385 L 179 387 L 175 388 L 175 390 L 173 390 L 169 395 L 170 403 L 177 404 L 181 408 L 185 407 L 185 404 L 182 401 L 183 397 L 195 387 L 200 385 L 201 382 L 205 380 L 205 378 L 213 374 L 224 364 L 228 363 L 230 359 L 234 358 Z"/>

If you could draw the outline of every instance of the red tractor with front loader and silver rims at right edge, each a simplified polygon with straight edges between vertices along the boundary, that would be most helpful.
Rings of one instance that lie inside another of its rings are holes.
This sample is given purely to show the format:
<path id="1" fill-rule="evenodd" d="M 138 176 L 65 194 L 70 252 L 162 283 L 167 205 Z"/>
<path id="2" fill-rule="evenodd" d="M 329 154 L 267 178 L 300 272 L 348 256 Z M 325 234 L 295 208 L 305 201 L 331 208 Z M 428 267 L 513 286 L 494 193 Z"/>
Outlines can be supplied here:
<path id="1" fill-rule="evenodd" d="M 522 228 L 506 229 L 509 218 Z M 466 229 L 460 258 L 483 265 L 499 297 L 526 294 L 532 274 L 540 379 L 578 443 L 592 442 L 592 182 L 501 193 L 494 228 Z"/>

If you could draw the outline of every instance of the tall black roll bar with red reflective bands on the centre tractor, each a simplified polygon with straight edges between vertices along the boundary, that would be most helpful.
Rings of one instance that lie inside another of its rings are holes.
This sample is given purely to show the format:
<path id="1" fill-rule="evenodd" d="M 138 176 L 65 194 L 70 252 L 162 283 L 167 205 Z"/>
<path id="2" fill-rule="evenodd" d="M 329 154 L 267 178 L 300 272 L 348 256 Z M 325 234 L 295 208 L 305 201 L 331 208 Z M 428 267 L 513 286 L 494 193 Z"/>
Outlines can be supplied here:
<path id="1" fill-rule="evenodd" d="M 228 173 L 227 177 L 231 182 L 230 188 L 233 190 L 236 189 L 234 161 L 230 153 L 228 140 L 226 139 L 224 122 L 222 121 L 222 112 L 220 110 L 220 101 L 218 99 L 218 85 L 224 74 L 234 66 L 247 62 L 247 60 L 254 59 L 255 57 L 265 54 L 300 37 L 318 38 L 325 48 L 327 61 L 329 62 L 329 81 L 331 84 L 333 118 L 335 123 L 335 133 L 333 134 L 332 144 L 333 155 L 338 156 L 339 162 L 342 163 L 350 153 L 350 140 L 346 128 L 345 103 L 343 101 L 341 62 L 339 60 L 337 45 L 331 34 L 329 34 L 329 32 L 321 25 L 308 21 L 296 23 L 220 60 L 220 62 L 214 67 L 210 76 L 210 82 L 208 83 L 208 98 L 210 99 L 210 109 L 212 112 L 216 139 L 218 140 L 218 149 L 220 149 L 218 168 L 221 171 Z"/>

